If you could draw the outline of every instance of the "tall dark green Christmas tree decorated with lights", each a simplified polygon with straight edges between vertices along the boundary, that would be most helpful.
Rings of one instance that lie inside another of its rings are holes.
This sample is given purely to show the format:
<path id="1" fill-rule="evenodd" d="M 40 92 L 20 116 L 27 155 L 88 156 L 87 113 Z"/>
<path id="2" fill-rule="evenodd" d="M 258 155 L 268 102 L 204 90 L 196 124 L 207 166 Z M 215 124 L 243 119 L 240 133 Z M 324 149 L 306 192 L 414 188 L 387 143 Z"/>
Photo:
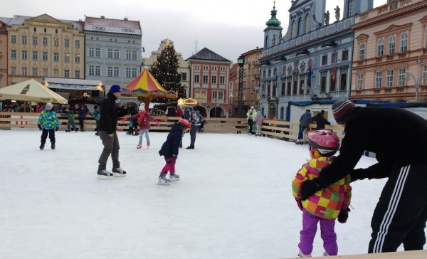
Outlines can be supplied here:
<path id="1" fill-rule="evenodd" d="M 181 85 L 181 73 L 178 72 L 179 63 L 175 53 L 175 48 L 172 45 L 167 45 L 166 48 L 157 57 L 157 61 L 149 69 L 157 82 L 167 91 L 174 90 L 178 93 L 179 98 L 185 98 L 186 85 Z M 153 100 L 153 102 L 169 102 L 169 100 Z"/>

